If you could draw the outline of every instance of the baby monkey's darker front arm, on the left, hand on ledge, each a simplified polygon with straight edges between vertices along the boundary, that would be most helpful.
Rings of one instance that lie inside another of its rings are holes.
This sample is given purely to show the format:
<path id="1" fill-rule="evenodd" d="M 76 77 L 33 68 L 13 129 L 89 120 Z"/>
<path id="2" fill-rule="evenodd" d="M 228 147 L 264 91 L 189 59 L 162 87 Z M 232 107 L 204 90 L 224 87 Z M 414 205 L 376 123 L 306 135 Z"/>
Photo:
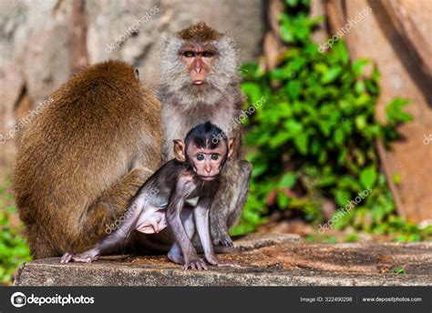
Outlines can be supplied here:
<path id="1" fill-rule="evenodd" d="M 181 223 L 180 213 L 186 198 L 188 182 L 179 178 L 175 190 L 171 192 L 170 203 L 167 207 L 167 220 L 171 227 L 171 232 L 180 246 L 184 259 L 184 268 L 188 269 L 207 269 L 205 262 L 198 257 L 195 247 L 193 247 L 183 224 Z"/>

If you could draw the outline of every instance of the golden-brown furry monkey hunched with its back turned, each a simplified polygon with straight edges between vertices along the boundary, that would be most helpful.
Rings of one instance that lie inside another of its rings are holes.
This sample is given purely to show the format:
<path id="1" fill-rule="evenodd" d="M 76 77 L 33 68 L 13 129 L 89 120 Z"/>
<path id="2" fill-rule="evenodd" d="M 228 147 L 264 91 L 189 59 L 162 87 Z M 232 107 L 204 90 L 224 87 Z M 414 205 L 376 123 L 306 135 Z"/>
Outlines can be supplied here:
<path id="1" fill-rule="evenodd" d="M 160 163 L 160 104 L 126 63 L 89 66 L 24 134 L 13 187 L 35 257 L 80 252 L 106 235 Z"/>

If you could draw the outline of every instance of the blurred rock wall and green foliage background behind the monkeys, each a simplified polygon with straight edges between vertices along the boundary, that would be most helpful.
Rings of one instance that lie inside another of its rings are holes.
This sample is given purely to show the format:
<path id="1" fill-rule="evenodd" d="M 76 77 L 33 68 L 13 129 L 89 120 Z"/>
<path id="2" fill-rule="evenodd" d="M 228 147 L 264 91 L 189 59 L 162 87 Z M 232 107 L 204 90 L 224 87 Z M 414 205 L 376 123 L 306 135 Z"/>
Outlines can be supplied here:
<path id="1" fill-rule="evenodd" d="M 163 35 L 201 20 L 236 38 L 255 108 L 232 235 L 430 240 L 431 18 L 428 0 L 0 0 L 0 284 L 30 259 L 10 190 L 26 125 L 88 64 L 126 60 L 156 89 Z"/>

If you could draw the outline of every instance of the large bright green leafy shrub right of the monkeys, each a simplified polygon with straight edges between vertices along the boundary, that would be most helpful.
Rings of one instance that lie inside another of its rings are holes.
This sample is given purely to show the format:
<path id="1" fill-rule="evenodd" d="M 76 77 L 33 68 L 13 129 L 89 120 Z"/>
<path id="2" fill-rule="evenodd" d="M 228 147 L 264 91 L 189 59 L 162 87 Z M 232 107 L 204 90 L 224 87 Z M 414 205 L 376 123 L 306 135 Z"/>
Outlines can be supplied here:
<path id="1" fill-rule="evenodd" d="M 343 39 L 320 53 L 311 39 L 320 19 L 307 16 L 308 1 L 287 0 L 285 5 L 281 37 L 289 48 L 279 65 L 271 71 L 257 64 L 242 67 L 246 107 L 259 99 L 264 104 L 248 122 L 252 186 L 241 223 L 232 233 L 252 231 L 271 209 L 291 209 L 306 220 L 323 222 L 320 207 L 325 200 L 345 207 L 367 193 L 334 228 L 419 234 L 395 217 L 375 149 L 378 139 L 389 146 L 397 138 L 396 126 L 412 119 L 403 111 L 407 101 L 390 102 L 386 125 L 378 123 L 376 66 L 367 59 L 350 62 Z"/>

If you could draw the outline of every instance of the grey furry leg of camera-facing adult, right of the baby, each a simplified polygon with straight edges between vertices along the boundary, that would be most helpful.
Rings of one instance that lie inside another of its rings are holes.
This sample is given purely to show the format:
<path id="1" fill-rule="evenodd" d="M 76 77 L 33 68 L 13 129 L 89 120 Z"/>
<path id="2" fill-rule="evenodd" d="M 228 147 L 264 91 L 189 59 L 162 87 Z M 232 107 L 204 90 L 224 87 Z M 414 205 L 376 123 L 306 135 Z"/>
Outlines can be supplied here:
<path id="1" fill-rule="evenodd" d="M 211 238 L 215 246 L 234 247 L 228 229 L 242 215 L 249 191 L 252 166 L 248 161 L 227 163 L 221 174 L 221 187 L 211 207 Z"/>

